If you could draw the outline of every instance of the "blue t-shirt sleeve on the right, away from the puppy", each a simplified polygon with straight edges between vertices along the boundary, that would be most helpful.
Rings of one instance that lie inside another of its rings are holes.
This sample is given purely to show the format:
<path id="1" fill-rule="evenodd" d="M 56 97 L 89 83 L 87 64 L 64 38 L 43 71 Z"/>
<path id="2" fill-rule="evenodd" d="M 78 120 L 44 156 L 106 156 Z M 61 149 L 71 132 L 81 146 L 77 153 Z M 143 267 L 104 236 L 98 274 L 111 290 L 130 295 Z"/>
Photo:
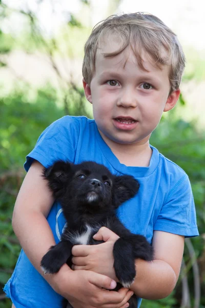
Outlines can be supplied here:
<path id="1" fill-rule="evenodd" d="M 185 237 L 198 236 L 196 210 L 187 175 L 183 176 L 169 192 L 154 224 L 154 230 Z"/>

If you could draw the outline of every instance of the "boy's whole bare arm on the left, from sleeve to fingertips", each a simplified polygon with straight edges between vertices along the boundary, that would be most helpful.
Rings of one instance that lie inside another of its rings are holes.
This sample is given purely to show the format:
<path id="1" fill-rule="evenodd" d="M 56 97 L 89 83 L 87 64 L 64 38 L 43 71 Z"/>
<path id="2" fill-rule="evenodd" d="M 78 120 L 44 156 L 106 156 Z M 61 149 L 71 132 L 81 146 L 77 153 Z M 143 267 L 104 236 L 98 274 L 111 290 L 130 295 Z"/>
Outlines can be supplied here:
<path id="1" fill-rule="evenodd" d="M 116 283 L 109 277 L 89 271 L 73 272 L 64 264 L 54 275 L 44 275 L 40 261 L 55 240 L 46 217 L 53 205 L 47 181 L 42 177 L 43 166 L 34 161 L 31 165 L 13 211 L 14 232 L 27 257 L 53 289 L 73 303 L 73 307 L 125 307 L 131 291 L 107 291 Z M 113 283 L 113 285 L 111 285 Z M 80 299 L 79 299 L 80 294 Z"/>

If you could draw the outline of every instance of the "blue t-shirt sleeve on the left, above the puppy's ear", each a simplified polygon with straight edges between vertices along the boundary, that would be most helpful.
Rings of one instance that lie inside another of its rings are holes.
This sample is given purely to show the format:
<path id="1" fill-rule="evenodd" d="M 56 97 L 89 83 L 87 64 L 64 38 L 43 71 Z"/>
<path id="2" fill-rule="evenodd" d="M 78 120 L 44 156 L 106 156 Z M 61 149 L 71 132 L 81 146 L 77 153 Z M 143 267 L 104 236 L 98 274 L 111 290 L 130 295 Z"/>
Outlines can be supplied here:
<path id="1" fill-rule="evenodd" d="M 27 155 L 25 169 L 28 171 L 33 160 L 44 167 L 57 160 L 74 162 L 79 136 L 79 123 L 75 117 L 63 117 L 47 127 L 38 138 L 34 149 Z"/>

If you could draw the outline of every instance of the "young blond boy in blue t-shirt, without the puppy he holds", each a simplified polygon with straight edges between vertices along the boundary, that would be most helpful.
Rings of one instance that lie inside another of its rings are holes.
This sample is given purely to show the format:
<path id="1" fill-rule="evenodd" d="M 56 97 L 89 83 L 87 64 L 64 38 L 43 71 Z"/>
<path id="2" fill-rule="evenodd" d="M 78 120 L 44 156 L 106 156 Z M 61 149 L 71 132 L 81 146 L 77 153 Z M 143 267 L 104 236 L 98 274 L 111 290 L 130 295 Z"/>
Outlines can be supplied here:
<path id="1" fill-rule="evenodd" d="M 12 221 L 24 250 L 5 286 L 16 308 L 57 308 L 61 296 L 74 308 L 127 307 L 132 292 L 147 299 L 172 292 L 184 238 L 198 235 L 195 208 L 188 176 L 149 139 L 162 112 L 171 110 L 179 98 L 184 66 L 176 35 L 151 14 L 111 16 L 94 28 L 83 63 L 83 85 L 94 120 L 57 120 L 27 156 L 28 173 Z M 117 214 L 131 232 L 146 236 L 155 258 L 136 260 L 131 290 L 111 291 L 117 236 L 107 228 L 95 236 L 105 243 L 73 247 L 76 271 L 66 264 L 55 275 L 44 275 L 40 269 L 40 260 L 60 240 L 65 225 L 60 204 L 54 202 L 41 176 L 44 166 L 59 159 L 96 161 L 114 174 L 130 174 L 140 182 L 137 196 L 121 205 Z"/>

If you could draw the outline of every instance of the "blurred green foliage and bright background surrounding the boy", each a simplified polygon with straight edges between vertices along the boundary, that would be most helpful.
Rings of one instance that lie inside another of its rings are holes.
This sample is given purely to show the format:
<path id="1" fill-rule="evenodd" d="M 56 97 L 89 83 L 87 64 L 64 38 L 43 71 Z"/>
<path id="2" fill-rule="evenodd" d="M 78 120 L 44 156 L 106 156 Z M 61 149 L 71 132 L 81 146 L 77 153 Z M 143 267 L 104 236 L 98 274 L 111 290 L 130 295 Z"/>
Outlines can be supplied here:
<path id="1" fill-rule="evenodd" d="M 32 10 L 29 5 L 17 8 L 10 3 L 0 1 L 0 308 L 11 306 L 2 288 L 20 251 L 11 217 L 25 176 L 25 156 L 39 134 L 63 115 L 92 118 L 80 72 L 84 44 L 92 28 L 91 3 L 79 1 L 77 13 L 66 8 L 60 26 L 52 32 L 40 24 L 37 6 Z M 36 3 L 42 5 L 44 1 Z M 119 5 L 120 1 L 111 2 L 106 16 L 116 12 Z M 56 7 L 52 8 L 57 14 Z M 142 308 L 205 307 L 205 125 L 204 108 L 197 104 L 202 101 L 205 58 L 202 51 L 190 46 L 186 56 L 180 100 L 174 110 L 163 115 L 151 144 L 189 175 L 200 237 L 186 240 L 174 292 L 163 300 L 144 300 Z M 196 88 L 195 95 L 191 88 Z M 194 95 L 194 102 L 188 103 L 190 95 Z"/>

